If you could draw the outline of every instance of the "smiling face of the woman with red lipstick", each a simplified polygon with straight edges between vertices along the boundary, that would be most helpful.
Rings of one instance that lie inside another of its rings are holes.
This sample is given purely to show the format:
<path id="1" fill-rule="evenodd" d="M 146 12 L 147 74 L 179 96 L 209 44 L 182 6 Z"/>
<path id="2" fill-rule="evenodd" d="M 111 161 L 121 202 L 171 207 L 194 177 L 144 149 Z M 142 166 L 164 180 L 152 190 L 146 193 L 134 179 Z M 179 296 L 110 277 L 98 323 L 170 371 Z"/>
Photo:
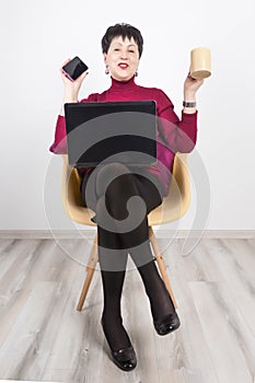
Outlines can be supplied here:
<path id="1" fill-rule="evenodd" d="M 139 65 L 139 50 L 134 38 L 123 39 L 121 36 L 113 38 L 107 54 L 104 54 L 104 62 L 115 80 L 130 80 Z"/>

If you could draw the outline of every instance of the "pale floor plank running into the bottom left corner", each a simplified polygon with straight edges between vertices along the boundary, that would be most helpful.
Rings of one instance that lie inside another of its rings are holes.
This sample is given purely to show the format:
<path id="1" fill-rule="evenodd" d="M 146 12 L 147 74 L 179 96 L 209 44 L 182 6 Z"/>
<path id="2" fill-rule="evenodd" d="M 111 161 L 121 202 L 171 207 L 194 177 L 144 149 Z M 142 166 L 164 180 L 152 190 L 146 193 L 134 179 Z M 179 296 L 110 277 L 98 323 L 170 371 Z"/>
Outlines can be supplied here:
<path id="1" fill-rule="evenodd" d="M 40 352 L 40 334 L 45 327 L 45 312 L 51 300 L 55 282 L 38 283 L 0 348 L 0 371 L 4 379 L 28 380 L 40 375 L 34 365 L 34 356 Z M 50 343 L 50 339 L 48 339 Z M 49 346 L 50 347 L 50 346 Z M 47 356 L 40 355 L 40 363 Z M 42 367 L 44 369 L 44 365 Z"/>

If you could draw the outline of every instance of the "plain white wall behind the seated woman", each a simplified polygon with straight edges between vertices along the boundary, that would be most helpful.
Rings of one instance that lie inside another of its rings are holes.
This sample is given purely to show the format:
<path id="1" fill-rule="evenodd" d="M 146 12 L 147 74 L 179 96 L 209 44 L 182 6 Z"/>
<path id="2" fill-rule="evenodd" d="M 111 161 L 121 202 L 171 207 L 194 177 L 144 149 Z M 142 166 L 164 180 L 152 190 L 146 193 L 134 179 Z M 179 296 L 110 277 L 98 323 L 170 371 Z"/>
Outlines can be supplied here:
<path id="1" fill-rule="evenodd" d="M 213 74 L 197 97 L 194 153 L 200 155 L 210 182 L 207 229 L 255 230 L 254 0 L 2 0 L 0 230 L 48 229 L 45 187 L 47 196 L 53 193 L 51 205 L 60 204 L 60 173 L 51 171 L 60 171 L 61 160 L 48 152 L 62 98 L 58 68 L 78 55 L 90 66 L 81 97 L 106 89 L 109 79 L 100 42 L 116 22 L 134 24 L 143 34 L 137 83 L 162 88 L 178 115 L 189 51 L 196 46 L 211 49 Z M 190 227 L 195 201 L 194 195 L 184 229 Z M 54 224 L 65 229 L 59 207 Z"/>

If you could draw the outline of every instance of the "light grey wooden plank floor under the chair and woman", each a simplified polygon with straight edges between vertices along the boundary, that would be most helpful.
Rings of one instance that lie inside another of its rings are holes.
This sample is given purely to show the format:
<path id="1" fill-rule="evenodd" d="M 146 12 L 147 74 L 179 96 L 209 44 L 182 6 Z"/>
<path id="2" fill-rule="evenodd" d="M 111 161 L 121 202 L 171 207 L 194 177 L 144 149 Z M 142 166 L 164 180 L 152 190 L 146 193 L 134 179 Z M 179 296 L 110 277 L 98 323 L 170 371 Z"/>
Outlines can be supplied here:
<path id="1" fill-rule="evenodd" d="M 89 245 L 62 240 L 79 259 Z M 167 240 L 159 240 L 166 247 Z M 155 334 L 137 270 L 127 272 L 123 316 L 138 367 L 121 372 L 108 358 L 100 325 L 95 272 L 85 306 L 74 310 L 84 267 L 54 240 L 0 241 L 0 379 L 70 383 L 254 383 L 255 239 L 200 241 L 165 252 L 182 321 Z M 131 265 L 131 264 L 129 264 Z"/>

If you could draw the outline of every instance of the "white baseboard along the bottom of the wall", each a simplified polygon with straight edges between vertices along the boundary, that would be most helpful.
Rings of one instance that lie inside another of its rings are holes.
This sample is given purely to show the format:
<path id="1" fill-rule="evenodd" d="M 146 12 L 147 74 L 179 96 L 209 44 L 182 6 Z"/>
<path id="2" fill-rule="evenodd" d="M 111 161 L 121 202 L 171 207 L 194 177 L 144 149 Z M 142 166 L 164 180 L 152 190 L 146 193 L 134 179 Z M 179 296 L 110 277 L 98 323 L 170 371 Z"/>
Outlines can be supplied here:
<path id="1" fill-rule="evenodd" d="M 255 230 L 205 230 L 192 231 L 189 230 L 158 230 L 154 229 L 157 237 L 174 236 L 176 239 L 185 239 L 187 236 L 204 239 L 255 239 Z M 31 240 L 48 240 L 48 239 L 84 239 L 93 237 L 94 230 L 55 230 L 54 233 L 49 230 L 0 230 L 0 240 L 9 239 L 31 239 Z"/>

